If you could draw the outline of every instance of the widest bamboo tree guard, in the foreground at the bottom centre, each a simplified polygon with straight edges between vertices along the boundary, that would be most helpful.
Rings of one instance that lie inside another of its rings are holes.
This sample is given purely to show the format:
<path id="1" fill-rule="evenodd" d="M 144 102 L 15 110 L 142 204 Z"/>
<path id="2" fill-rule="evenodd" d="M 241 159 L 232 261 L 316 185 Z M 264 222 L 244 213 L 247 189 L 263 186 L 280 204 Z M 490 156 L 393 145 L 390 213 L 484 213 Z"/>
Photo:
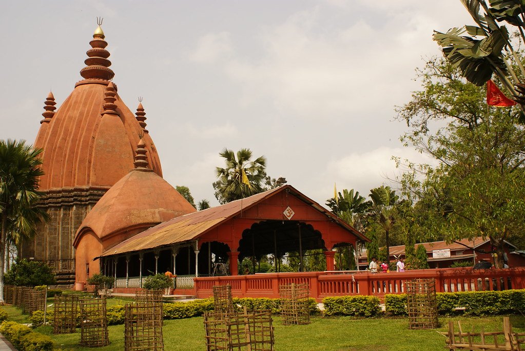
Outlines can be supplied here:
<path id="1" fill-rule="evenodd" d="M 204 312 L 206 349 L 236 351 L 274 351 L 271 312 Z"/>

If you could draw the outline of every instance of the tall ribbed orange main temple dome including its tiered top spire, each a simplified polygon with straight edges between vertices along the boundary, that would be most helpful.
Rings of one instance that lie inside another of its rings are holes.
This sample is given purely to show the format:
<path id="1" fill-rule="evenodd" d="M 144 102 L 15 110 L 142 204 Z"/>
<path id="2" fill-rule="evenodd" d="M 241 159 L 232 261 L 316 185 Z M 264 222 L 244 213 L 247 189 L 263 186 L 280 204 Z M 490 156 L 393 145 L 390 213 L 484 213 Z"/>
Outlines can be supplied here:
<path id="1" fill-rule="evenodd" d="M 78 82 L 66 101 L 40 126 L 35 146 L 44 149 L 41 191 L 109 189 L 133 168 L 133 149 L 142 135 L 151 168 L 162 177 L 153 140 L 122 102 L 117 86 L 108 80 L 113 73 L 107 74 L 110 62 L 103 61 L 109 57 L 103 37 L 97 28 L 86 60 L 91 73 L 82 73 L 87 79 Z M 50 101 L 48 98 L 46 106 Z"/>

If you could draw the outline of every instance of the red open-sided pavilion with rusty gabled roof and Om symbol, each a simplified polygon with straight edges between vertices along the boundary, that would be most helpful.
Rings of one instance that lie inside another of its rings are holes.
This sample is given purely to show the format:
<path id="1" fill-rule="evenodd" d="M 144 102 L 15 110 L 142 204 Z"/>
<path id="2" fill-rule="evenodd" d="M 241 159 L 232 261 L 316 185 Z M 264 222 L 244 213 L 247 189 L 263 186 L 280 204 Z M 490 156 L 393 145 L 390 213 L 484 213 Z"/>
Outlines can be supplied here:
<path id="1" fill-rule="evenodd" d="M 102 253 L 104 273 L 119 277 L 164 272 L 213 275 L 228 262 L 237 275 L 238 261 L 264 255 L 283 257 L 323 249 L 333 270 L 334 248 L 369 241 L 362 233 L 306 195 L 283 185 L 248 198 L 185 214 L 146 229 Z M 300 270 L 302 270 L 300 268 Z"/>

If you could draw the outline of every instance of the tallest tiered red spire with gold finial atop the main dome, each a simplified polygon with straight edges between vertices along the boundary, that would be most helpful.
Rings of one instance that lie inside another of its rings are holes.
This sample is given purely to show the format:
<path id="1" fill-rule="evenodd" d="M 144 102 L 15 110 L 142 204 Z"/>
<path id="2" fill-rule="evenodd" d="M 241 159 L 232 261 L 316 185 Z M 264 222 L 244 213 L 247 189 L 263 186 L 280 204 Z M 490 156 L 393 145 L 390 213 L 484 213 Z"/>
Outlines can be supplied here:
<path id="1" fill-rule="evenodd" d="M 115 73 L 109 69 L 111 61 L 108 60 L 110 55 L 109 51 L 106 50 L 108 43 L 104 38 L 104 32 L 100 27 L 102 25 L 102 19 L 97 18 L 98 27 L 93 33 L 93 40 L 89 42 L 91 49 L 86 54 L 88 58 L 84 63 L 86 67 L 80 70 L 80 75 L 85 79 L 102 79 L 111 80 Z"/>

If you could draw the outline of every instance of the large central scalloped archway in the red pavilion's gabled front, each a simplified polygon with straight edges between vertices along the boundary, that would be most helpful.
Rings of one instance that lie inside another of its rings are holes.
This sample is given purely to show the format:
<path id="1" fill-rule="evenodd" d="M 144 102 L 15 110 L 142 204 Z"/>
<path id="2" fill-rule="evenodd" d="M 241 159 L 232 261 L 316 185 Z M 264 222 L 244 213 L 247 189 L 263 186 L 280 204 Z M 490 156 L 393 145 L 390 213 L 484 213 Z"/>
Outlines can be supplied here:
<path id="1" fill-rule="evenodd" d="M 245 229 L 239 240 L 239 269 L 241 273 L 245 269 L 251 273 L 260 271 L 261 259 L 269 257 L 276 272 L 281 271 L 284 261 L 290 263 L 292 260 L 297 262 L 295 270 L 305 271 L 305 258 L 311 255 L 324 260 L 325 250 L 321 233 L 310 224 L 275 220 L 258 222 Z M 246 267 L 247 258 L 251 260 L 251 267 Z"/>

